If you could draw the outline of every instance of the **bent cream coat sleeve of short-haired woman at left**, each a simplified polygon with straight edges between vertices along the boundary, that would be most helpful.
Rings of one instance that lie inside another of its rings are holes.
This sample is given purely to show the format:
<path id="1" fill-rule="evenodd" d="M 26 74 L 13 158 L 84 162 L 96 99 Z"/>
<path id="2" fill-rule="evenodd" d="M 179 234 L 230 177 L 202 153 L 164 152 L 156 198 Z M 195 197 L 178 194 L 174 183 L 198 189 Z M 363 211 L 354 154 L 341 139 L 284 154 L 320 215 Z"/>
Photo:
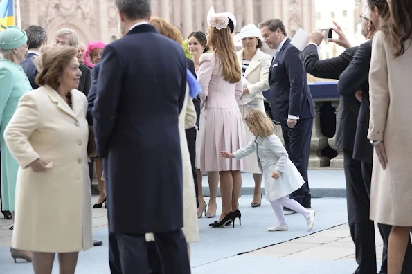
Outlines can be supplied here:
<path id="1" fill-rule="evenodd" d="M 21 96 L 19 105 L 13 114 L 6 130 L 4 140 L 8 150 L 15 157 L 21 168 L 26 168 L 40 158 L 28 139 L 39 125 L 37 102 L 30 93 Z"/>

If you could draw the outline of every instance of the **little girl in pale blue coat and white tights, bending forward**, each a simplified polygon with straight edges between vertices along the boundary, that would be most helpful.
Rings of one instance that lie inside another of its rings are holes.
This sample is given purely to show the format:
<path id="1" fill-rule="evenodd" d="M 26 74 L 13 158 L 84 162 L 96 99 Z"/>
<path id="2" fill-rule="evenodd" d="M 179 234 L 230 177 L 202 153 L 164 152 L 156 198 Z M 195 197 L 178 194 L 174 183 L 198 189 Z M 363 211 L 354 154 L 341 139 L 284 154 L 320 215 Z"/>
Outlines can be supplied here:
<path id="1" fill-rule="evenodd" d="M 289 199 L 289 194 L 301 188 L 305 181 L 294 163 L 290 161 L 282 142 L 274 134 L 273 122 L 260 109 L 251 109 L 244 120 L 253 133 L 251 142 L 237 152 L 220 152 L 220 154 L 224 158 L 240 160 L 256 151 L 258 165 L 265 181 L 265 197 L 270 201 L 278 219 L 278 223 L 267 230 L 288 230 L 283 206 L 302 214 L 307 222 L 307 230 L 311 230 L 314 225 L 315 211 L 307 210 L 294 199 Z"/>

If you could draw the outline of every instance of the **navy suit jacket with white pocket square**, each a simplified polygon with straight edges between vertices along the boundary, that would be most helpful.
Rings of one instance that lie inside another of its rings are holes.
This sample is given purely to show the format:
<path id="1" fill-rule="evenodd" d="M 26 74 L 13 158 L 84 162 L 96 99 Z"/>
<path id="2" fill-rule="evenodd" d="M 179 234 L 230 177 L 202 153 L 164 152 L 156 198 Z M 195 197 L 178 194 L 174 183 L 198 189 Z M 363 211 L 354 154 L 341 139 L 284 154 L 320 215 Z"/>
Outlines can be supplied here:
<path id="1" fill-rule="evenodd" d="M 288 38 L 269 68 L 272 117 L 281 124 L 286 124 L 288 115 L 300 119 L 316 116 L 300 53 Z"/>

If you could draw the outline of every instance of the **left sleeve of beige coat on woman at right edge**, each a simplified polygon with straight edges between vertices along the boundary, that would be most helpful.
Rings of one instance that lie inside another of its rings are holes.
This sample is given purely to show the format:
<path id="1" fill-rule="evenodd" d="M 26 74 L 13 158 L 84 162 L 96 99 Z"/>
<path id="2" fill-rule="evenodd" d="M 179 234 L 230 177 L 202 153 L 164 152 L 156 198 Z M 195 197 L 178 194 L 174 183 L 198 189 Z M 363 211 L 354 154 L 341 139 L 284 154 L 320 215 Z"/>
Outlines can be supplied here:
<path id="1" fill-rule="evenodd" d="M 382 33 L 375 33 L 369 71 L 370 121 L 368 139 L 384 140 L 389 108 L 388 64 Z"/>

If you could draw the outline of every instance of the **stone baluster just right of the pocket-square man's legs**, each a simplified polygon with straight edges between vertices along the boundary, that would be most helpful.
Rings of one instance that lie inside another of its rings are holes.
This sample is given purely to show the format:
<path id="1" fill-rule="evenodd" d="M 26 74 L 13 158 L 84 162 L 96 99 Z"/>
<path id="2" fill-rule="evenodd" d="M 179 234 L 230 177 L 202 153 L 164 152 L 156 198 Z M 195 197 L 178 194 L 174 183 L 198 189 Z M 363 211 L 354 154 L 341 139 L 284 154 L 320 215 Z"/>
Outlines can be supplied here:
<path id="1" fill-rule="evenodd" d="M 321 151 L 328 145 L 328 138 L 321 131 L 320 109 L 323 101 L 314 101 L 316 117 L 313 119 L 312 136 L 310 139 L 309 167 L 326 167 L 329 158 L 322 156 Z"/>

